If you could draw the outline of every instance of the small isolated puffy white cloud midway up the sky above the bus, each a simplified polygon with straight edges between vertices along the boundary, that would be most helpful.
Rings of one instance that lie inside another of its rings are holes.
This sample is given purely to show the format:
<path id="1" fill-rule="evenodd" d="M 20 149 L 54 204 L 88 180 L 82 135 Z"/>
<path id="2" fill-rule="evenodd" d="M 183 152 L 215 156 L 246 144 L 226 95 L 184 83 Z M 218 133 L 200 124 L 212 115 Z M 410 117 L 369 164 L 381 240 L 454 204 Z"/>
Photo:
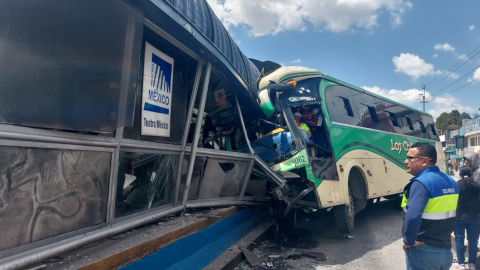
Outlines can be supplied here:
<path id="1" fill-rule="evenodd" d="M 422 76 L 438 75 L 442 72 L 435 70 L 432 64 L 425 62 L 418 55 L 411 53 L 401 53 L 400 56 L 392 58 L 395 65 L 395 72 L 405 73 L 416 80 Z"/>

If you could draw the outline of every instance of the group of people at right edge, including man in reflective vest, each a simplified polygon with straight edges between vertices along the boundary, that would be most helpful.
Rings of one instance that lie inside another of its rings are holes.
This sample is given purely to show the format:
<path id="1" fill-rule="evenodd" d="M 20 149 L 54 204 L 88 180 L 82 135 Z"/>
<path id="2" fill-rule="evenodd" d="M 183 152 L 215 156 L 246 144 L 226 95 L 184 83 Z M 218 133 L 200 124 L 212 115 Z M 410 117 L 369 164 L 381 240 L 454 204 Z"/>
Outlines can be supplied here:
<path id="1" fill-rule="evenodd" d="M 403 250 L 408 270 L 476 269 L 480 221 L 480 169 L 475 153 L 464 157 L 460 179 L 442 173 L 435 147 L 415 143 L 405 165 L 414 177 L 405 187 Z M 457 260 L 453 264 L 451 233 Z M 465 258 L 465 232 L 468 259 Z"/>

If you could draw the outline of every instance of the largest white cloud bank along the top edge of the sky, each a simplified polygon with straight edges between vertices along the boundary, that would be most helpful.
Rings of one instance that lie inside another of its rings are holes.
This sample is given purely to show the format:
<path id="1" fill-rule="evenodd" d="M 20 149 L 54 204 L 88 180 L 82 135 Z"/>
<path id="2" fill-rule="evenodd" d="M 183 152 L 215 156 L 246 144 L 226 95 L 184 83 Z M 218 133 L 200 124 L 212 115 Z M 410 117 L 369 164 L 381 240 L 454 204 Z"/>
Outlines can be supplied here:
<path id="1" fill-rule="evenodd" d="M 246 26 L 254 36 L 288 30 L 305 31 L 311 23 L 318 30 L 342 32 L 372 29 L 388 12 L 394 26 L 413 7 L 408 0 L 207 0 L 225 27 Z"/>

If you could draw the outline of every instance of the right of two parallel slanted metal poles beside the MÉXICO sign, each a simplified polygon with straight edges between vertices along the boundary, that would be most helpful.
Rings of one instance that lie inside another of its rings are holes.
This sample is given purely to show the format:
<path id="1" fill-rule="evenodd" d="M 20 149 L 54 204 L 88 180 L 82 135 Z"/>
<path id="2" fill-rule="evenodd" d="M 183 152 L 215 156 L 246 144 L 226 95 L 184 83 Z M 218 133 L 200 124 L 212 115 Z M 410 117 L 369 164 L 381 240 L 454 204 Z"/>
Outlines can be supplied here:
<path id="1" fill-rule="evenodd" d="M 202 96 L 200 98 L 200 106 L 198 108 L 197 123 L 195 125 L 195 134 L 193 136 L 192 151 L 190 152 L 190 160 L 188 162 L 187 178 L 185 181 L 185 189 L 183 191 L 182 205 L 186 205 L 188 199 L 188 191 L 190 190 L 190 182 L 192 181 L 193 165 L 197 154 L 198 140 L 200 138 L 200 130 L 202 129 L 203 112 L 205 111 L 205 102 L 207 100 L 208 84 L 210 83 L 210 72 L 212 71 L 212 63 L 207 63 L 205 70 L 205 79 L 203 81 Z"/>

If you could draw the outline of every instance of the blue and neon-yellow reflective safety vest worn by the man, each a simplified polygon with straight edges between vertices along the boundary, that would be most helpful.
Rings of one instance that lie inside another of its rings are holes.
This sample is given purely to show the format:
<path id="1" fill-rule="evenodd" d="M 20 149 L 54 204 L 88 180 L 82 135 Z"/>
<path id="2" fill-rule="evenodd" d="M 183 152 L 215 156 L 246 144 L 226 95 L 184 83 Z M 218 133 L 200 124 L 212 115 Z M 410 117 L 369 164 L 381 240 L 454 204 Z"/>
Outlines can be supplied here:
<path id="1" fill-rule="evenodd" d="M 410 187 L 414 181 L 421 182 L 429 193 L 417 241 L 433 247 L 450 248 L 450 234 L 455 226 L 458 202 L 457 183 L 450 176 L 440 172 L 437 166 L 424 169 L 405 186 L 401 206 L 406 211 Z"/>

